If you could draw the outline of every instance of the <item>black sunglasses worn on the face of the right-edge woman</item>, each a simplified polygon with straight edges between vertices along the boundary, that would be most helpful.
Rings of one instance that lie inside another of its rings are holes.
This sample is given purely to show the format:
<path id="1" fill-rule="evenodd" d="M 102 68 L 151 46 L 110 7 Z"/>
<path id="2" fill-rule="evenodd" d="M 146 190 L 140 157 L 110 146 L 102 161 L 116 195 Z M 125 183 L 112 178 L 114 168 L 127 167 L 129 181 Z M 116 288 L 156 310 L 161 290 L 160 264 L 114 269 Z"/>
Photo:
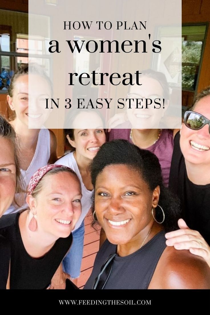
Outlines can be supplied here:
<path id="1" fill-rule="evenodd" d="M 199 130 L 203 128 L 203 126 L 208 125 L 210 133 L 210 120 L 199 113 L 186 111 L 184 113 L 184 124 L 193 130 Z"/>

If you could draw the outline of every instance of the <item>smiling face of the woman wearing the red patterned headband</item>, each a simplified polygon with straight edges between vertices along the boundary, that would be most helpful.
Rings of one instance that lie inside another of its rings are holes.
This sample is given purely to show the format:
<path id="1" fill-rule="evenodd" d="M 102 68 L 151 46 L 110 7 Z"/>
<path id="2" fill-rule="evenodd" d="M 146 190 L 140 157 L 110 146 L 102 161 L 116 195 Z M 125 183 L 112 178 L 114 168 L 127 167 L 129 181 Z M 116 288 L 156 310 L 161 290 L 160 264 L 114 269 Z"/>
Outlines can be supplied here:
<path id="1" fill-rule="evenodd" d="M 42 189 L 27 202 L 37 218 L 39 231 L 55 239 L 66 238 L 74 229 L 81 215 L 81 185 L 75 175 L 68 172 L 47 174 Z"/>

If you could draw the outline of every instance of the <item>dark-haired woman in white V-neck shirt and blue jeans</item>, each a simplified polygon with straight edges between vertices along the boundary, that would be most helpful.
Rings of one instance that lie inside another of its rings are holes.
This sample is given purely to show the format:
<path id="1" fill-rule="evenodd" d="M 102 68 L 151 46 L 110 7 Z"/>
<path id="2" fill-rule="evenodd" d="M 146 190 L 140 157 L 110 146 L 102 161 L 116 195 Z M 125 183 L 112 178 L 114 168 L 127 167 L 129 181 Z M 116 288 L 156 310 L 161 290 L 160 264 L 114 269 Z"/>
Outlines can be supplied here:
<path id="1" fill-rule="evenodd" d="M 73 169 L 82 186 L 82 215 L 77 222 L 73 231 L 74 243 L 66 255 L 63 266 L 65 272 L 71 275 L 71 278 L 78 278 L 80 275 L 80 267 L 83 253 L 84 241 L 84 218 L 92 205 L 93 185 L 90 177 L 90 163 L 105 142 L 105 132 L 103 122 L 97 113 L 85 111 L 77 112 L 71 117 L 70 126 L 79 126 L 81 118 L 93 119 L 93 127 L 95 129 L 64 129 L 66 140 L 71 146 L 72 152 L 61 157 L 55 164 L 63 164 Z M 81 124 L 82 127 L 82 124 Z M 77 279 L 73 280 L 77 284 Z"/>

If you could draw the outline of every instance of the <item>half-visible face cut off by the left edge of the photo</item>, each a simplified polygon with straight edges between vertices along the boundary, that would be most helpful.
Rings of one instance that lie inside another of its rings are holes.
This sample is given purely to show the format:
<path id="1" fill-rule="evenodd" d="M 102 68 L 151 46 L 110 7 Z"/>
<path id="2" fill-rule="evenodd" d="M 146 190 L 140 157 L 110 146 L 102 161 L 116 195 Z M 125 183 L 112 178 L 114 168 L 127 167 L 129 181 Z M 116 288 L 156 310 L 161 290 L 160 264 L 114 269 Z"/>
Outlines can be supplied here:
<path id="1" fill-rule="evenodd" d="M 9 208 L 15 193 L 16 167 L 14 146 L 9 139 L 0 137 L 0 217 Z"/>

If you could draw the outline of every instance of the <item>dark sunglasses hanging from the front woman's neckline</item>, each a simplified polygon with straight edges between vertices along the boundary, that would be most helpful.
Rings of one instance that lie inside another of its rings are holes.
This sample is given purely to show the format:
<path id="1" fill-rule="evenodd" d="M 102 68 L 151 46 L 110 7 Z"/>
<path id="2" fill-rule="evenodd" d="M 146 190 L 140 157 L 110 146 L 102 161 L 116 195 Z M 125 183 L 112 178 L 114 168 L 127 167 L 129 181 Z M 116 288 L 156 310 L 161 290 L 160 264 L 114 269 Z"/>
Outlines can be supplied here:
<path id="1" fill-rule="evenodd" d="M 104 289 L 105 284 L 107 283 L 109 276 L 111 274 L 112 266 L 113 266 L 113 261 L 114 257 L 116 254 L 111 254 L 103 263 L 101 267 L 101 271 L 98 275 L 98 277 L 95 278 L 94 284 L 92 289 Z"/>

